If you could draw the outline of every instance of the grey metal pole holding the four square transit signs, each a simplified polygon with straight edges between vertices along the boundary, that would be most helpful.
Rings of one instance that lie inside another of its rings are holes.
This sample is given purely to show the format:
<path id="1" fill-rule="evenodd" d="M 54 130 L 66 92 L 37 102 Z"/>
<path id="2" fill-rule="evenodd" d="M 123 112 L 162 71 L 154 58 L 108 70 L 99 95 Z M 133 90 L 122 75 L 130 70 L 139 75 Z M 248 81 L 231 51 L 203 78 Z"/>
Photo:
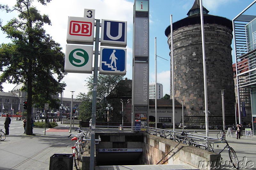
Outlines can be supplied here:
<path id="1" fill-rule="evenodd" d="M 91 129 L 90 170 L 94 170 L 96 100 L 97 100 L 97 79 L 98 79 L 98 56 L 99 56 L 99 41 L 100 41 L 100 19 L 95 19 L 95 20 L 96 20 L 96 34 L 95 34 L 95 52 L 94 52 L 94 69 L 93 69 L 92 129 Z"/>

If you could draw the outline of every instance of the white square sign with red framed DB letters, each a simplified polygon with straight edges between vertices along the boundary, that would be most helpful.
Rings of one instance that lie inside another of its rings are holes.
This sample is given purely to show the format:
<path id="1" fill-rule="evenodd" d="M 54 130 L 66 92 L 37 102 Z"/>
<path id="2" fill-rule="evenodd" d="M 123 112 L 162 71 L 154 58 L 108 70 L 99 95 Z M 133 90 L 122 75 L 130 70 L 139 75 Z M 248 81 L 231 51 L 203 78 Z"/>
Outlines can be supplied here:
<path id="1" fill-rule="evenodd" d="M 93 45 L 93 33 L 93 18 L 68 17 L 67 43 Z"/>

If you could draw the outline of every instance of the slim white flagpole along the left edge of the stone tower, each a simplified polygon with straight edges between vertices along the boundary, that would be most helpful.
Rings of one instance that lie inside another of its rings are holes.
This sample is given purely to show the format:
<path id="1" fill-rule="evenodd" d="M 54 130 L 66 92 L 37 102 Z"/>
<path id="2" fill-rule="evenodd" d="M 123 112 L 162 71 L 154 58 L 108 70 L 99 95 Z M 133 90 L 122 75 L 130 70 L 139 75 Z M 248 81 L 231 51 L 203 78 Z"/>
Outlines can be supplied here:
<path id="1" fill-rule="evenodd" d="M 174 61 L 173 61 L 173 33 L 172 33 L 172 15 L 171 15 L 171 61 L 172 61 L 172 122 L 173 131 L 175 131 L 175 100 L 174 100 Z"/>

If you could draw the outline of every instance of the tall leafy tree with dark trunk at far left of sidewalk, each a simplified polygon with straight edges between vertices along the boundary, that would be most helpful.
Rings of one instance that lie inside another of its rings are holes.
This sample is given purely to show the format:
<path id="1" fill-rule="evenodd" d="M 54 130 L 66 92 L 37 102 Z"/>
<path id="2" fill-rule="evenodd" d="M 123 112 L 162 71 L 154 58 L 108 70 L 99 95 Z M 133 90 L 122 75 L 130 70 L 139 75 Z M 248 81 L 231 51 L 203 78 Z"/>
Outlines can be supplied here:
<path id="1" fill-rule="evenodd" d="M 38 0 L 43 5 L 50 1 Z M 12 8 L 0 4 L 1 10 L 19 12 L 18 18 L 13 18 L 5 26 L 0 20 L 2 31 L 12 41 L 12 43 L 0 45 L 0 70 L 2 71 L 0 89 L 3 89 L 2 84 L 6 81 L 11 84 L 24 83 L 27 87 L 27 135 L 33 133 L 31 127 L 33 88 L 41 89 L 39 85 L 43 82 L 42 80 L 56 85 L 66 74 L 64 72 L 65 55 L 61 52 L 60 44 L 53 41 L 43 29 L 44 24 L 51 25 L 51 21 L 47 15 L 41 15 L 32 3 L 33 0 L 17 0 Z"/>

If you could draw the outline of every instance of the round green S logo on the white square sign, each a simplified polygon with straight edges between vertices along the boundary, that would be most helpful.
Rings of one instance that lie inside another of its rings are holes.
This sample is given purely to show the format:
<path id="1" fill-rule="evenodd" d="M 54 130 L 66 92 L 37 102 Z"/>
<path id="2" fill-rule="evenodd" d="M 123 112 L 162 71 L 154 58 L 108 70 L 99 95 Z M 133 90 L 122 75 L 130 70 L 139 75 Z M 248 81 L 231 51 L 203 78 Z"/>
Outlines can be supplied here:
<path id="1" fill-rule="evenodd" d="M 69 62 L 76 67 L 83 67 L 89 61 L 88 53 L 81 48 L 74 49 L 68 55 Z"/>

